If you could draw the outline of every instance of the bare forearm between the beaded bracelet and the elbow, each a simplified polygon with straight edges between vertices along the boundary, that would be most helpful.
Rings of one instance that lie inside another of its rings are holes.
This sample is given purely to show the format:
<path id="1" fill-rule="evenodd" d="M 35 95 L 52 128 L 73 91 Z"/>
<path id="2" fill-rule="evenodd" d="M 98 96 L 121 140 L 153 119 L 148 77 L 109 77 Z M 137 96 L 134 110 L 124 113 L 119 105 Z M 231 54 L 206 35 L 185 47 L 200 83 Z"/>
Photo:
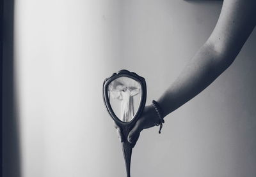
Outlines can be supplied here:
<path id="1" fill-rule="evenodd" d="M 164 117 L 210 85 L 230 66 L 235 57 L 216 53 L 211 45 L 202 46 L 177 80 L 157 100 L 163 109 Z"/>

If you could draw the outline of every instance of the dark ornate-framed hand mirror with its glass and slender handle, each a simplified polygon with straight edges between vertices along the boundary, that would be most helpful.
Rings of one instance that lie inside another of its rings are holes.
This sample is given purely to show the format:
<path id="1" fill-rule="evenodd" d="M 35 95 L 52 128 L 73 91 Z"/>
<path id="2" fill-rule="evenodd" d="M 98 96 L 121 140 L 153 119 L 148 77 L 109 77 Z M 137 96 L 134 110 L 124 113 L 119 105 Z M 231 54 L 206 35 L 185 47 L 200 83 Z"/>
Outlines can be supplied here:
<path id="1" fill-rule="evenodd" d="M 134 145 L 127 136 L 140 117 L 146 102 L 145 79 L 127 70 L 118 71 L 103 83 L 103 99 L 109 115 L 121 129 L 124 136 L 124 153 L 127 177 L 130 177 L 131 155 Z"/>

